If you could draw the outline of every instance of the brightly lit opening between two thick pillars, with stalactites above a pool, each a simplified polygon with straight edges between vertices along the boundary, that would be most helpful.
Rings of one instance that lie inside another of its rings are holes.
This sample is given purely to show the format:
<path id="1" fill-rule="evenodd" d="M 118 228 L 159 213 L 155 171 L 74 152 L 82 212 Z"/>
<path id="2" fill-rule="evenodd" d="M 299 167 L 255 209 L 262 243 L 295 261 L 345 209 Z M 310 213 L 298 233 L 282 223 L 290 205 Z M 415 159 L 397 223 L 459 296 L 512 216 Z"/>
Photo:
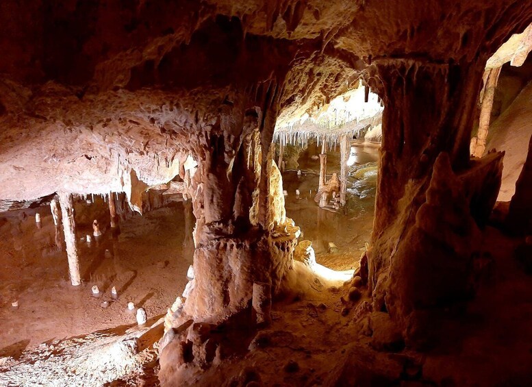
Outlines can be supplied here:
<path id="1" fill-rule="evenodd" d="M 360 84 L 290 129 L 278 123 L 274 136 L 286 214 L 334 271 L 358 269 L 371 239 L 382 106 L 365 91 Z"/>

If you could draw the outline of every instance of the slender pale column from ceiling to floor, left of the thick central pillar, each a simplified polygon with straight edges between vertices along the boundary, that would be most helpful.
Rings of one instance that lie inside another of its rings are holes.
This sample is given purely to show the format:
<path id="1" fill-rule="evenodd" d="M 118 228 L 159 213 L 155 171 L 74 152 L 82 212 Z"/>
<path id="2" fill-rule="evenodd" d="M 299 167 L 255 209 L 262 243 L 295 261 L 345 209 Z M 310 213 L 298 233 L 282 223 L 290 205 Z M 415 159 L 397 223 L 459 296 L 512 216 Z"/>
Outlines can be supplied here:
<path id="1" fill-rule="evenodd" d="M 81 284 L 81 276 L 79 275 L 76 223 L 74 219 L 74 200 L 72 194 L 60 192 L 59 202 L 61 205 L 66 255 L 68 255 L 68 272 L 70 273 L 71 284 L 73 286 L 79 286 Z"/>

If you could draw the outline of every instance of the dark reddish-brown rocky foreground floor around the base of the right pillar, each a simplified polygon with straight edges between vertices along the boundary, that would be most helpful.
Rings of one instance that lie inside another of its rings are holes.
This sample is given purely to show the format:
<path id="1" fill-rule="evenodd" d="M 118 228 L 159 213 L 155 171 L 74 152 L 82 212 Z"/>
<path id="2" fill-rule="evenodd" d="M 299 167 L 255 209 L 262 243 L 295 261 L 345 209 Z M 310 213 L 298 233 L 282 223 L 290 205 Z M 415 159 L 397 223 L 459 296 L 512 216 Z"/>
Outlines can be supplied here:
<path id="1" fill-rule="evenodd" d="M 229 357 L 201 373 L 185 369 L 183 385 L 246 386 L 530 386 L 532 294 L 530 277 L 513 257 L 518 240 L 487 227 L 477 297 L 444 310 L 438 345 L 425 353 L 375 349 L 377 314 L 368 291 L 342 316 L 346 286 L 314 283 L 311 292 L 273 305 L 273 323 L 242 340 L 244 355 Z M 357 308 L 359 308 L 357 312 Z M 197 371 L 196 371 L 197 372 Z"/>

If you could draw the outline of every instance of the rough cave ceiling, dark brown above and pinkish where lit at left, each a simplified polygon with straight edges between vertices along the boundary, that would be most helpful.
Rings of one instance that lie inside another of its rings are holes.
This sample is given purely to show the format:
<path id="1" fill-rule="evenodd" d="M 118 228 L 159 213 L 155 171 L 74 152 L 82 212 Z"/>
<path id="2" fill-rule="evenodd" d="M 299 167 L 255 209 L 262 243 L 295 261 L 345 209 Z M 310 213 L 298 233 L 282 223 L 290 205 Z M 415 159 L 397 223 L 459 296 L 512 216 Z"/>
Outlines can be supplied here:
<path id="1" fill-rule="evenodd" d="M 376 62 L 487 60 L 532 20 L 520 0 L 384 3 L 2 1 L 0 198 L 166 182 L 268 82 L 290 121 Z"/>

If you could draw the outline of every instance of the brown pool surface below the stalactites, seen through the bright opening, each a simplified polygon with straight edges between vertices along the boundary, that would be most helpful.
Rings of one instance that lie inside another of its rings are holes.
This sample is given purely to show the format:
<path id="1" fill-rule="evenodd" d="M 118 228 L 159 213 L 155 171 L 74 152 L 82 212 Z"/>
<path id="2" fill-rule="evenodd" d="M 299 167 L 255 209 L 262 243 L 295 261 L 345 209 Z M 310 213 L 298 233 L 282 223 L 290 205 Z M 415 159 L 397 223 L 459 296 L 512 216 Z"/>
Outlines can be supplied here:
<path id="1" fill-rule="evenodd" d="M 346 205 L 334 208 L 334 199 L 328 198 L 327 207 L 320 208 L 314 200 L 318 191 L 320 147 L 312 142 L 306 149 L 295 145 L 285 148 L 286 154 L 299 153 L 296 168 L 290 164 L 282 171 L 286 214 L 301 227 L 301 240 L 310 240 L 316 252 L 316 261 L 336 271 L 353 270 L 358 258 L 370 242 L 379 145 L 353 140 L 351 151 L 355 162 L 348 167 Z M 327 181 L 340 175 L 340 151 L 327 150 Z M 340 187 L 335 196 L 339 196 Z M 296 192 L 299 191 L 299 195 Z M 353 259 L 354 258 L 354 259 Z"/>

